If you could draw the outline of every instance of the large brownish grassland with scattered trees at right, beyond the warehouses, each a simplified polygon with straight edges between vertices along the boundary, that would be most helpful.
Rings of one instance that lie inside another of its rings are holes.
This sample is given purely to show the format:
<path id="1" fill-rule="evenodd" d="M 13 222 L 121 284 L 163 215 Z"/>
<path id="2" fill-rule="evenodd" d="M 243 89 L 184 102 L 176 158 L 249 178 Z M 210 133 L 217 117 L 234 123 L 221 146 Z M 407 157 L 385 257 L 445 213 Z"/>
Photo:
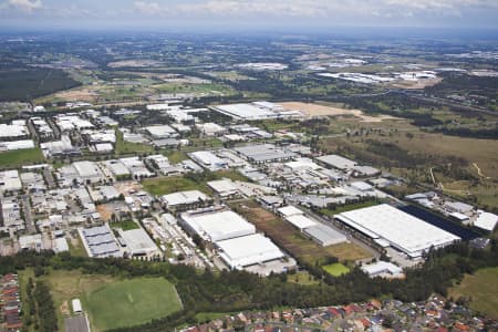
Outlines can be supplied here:
<path id="1" fill-rule="evenodd" d="M 320 146 L 423 184 L 433 184 L 429 169 L 434 167 L 446 194 L 467 199 L 469 193 L 483 207 L 498 208 L 498 141 L 427 133 L 406 122 L 378 123 L 377 129 L 365 124 L 365 128 L 372 128 L 367 136 L 326 137 Z"/>

